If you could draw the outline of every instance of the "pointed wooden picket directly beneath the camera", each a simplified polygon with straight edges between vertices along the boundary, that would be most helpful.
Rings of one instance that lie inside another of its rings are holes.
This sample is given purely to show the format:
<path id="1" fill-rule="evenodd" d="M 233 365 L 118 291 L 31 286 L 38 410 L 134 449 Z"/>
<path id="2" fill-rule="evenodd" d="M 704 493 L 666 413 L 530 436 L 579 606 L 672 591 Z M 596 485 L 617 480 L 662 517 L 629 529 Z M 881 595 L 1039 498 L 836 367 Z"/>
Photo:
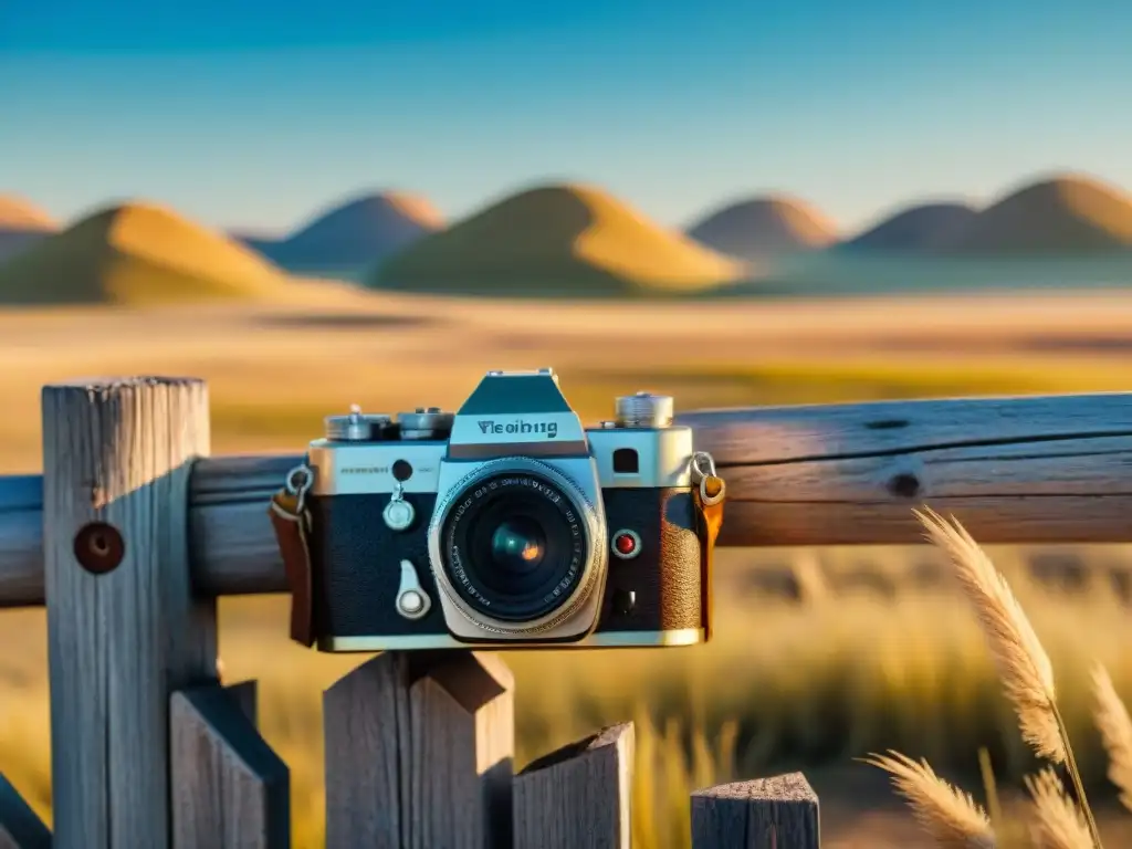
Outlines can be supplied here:
<path id="1" fill-rule="evenodd" d="M 326 691 L 326 849 L 511 844 L 514 679 L 492 654 L 386 652 Z"/>

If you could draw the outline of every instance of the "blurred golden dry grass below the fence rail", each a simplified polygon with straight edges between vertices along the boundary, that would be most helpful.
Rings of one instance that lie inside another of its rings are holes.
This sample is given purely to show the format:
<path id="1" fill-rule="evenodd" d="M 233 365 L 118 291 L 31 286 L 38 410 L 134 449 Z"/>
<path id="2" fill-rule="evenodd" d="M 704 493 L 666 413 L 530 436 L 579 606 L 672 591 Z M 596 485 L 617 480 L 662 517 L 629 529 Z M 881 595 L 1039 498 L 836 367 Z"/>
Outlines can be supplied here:
<path id="1" fill-rule="evenodd" d="M 846 568 L 859 567 L 856 552 L 839 554 Z M 736 582 L 794 557 L 723 555 L 719 573 Z M 1007 555 L 996 552 L 1010 563 Z M 866 563 L 877 575 L 895 580 L 906 572 L 908 552 L 876 558 L 871 552 Z M 830 552 L 823 559 L 838 566 Z M 1126 608 L 1101 590 L 1073 600 L 1021 574 L 1014 583 L 1055 669 L 1072 670 L 1098 654 L 1117 692 L 1132 693 L 1132 662 L 1123 649 L 1132 641 Z M 732 778 L 796 767 L 820 775 L 831 764 L 886 749 L 927 756 L 941 772 L 962 774 L 980 745 L 990 748 L 1004 787 L 1032 770 L 978 625 L 960 616 L 952 598 L 906 584 L 893 598 L 834 588 L 812 602 L 739 590 L 724 590 L 722 601 L 718 640 L 706 646 L 508 655 L 517 681 L 517 765 L 595 727 L 637 719 L 638 849 L 686 849 L 688 790 Z M 221 653 L 230 680 L 260 683 L 264 734 L 292 769 L 294 844 L 314 848 L 323 827 L 320 693 L 365 658 L 298 649 L 285 637 L 285 621 L 281 599 L 225 600 Z M 1083 621 L 1105 635 L 1095 649 L 1095 637 L 1082 635 Z M 37 809 L 49 812 L 42 615 L 3 614 L 0 640 L 7 648 L 0 660 L 0 766 Z M 1104 753 L 1088 745 L 1088 692 L 1067 684 L 1061 689 L 1071 736 L 1086 744 L 1081 766 L 1098 792 L 1106 764 Z M 855 794 L 866 778 L 852 777 Z M 878 800 L 868 792 L 854 798 L 865 806 Z M 838 824 L 829 814 L 825 825 L 838 846 Z"/>

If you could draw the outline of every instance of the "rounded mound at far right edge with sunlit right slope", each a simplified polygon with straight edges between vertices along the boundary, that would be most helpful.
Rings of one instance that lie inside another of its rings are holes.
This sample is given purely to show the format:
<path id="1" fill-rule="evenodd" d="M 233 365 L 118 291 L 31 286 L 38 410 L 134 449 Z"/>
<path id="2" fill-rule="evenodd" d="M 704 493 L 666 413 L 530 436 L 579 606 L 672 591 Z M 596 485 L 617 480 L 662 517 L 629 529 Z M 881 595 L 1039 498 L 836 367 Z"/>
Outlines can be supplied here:
<path id="1" fill-rule="evenodd" d="M 1027 186 L 941 246 L 954 254 L 1089 254 L 1132 248 L 1132 197 L 1089 177 Z"/>

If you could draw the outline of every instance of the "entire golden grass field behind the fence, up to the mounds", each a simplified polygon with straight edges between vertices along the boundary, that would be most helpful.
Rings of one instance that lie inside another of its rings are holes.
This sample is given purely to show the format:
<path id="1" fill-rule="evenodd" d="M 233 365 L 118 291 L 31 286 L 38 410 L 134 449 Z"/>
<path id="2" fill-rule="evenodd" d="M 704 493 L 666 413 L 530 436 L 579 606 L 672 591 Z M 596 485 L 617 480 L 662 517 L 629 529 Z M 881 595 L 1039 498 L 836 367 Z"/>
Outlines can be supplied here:
<path id="1" fill-rule="evenodd" d="M 307 292 L 307 294 L 303 294 Z M 40 465 L 38 391 L 92 374 L 207 378 L 213 451 L 299 452 L 321 417 L 455 405 L 489 368 L 551 365 L 586 420 L 615 394 L 670 392 L 678 409 L 960 394 L 1132 389 L 1132 295 L 523 305 L 297 288 L 273 307 L 0 314 L 0 472 Z M 1088 663 L 1132 696 L 1132 616 L 1100 580 L 1132 550 L 1071 551 L 1096 568 L 1073 592 L 1035 580 L 1031 552 L 994 549 L 1057 669 L 1082 769 L 1104 796 Z M 689 789 L 803 769 L 822 797 L 823 846 L 921 846 L 876 769 L 895 748 L 944 774 L 989 749 L 1004 783 L 1032 764 L 966 607 L 929 549 L 728 550 L 718 637 L 693 649 L 508 655 L 520 764 L 636 717 L 640 849 L 687 846 Z M 777 589 L 790 581 L 800 598 Z M 277 598 L 224 600 L 225 676 L 260 681 L 268 740 L 292 769 L 294 844 L 319 844 L 321 688 L 362 660 L 291 645 Z M 40 611 L 0 614 L 0 770 L 50 813 Z M 1103 812 L 1107 811 L 1100 806 Z M 1109 846 L 1132 838 L 1101 813 Z"/>

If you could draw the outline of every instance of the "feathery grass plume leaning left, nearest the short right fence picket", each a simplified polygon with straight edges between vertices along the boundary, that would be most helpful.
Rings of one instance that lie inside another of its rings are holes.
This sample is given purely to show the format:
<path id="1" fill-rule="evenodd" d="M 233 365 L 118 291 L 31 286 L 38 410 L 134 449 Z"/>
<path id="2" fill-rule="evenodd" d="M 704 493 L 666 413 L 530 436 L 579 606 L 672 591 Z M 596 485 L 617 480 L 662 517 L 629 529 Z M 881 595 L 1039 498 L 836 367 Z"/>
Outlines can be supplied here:
<path id="1" fill-rule="evenodd" d="M 920 827 L 941 849 L 994 849 L 995 838 L 986 812 L 954 784 L 935 774 L 927 761 L 916 762 L 899 752 L 871 754 L 863 763 L 892 777 L 892 786 L 911 806 Z"/>

